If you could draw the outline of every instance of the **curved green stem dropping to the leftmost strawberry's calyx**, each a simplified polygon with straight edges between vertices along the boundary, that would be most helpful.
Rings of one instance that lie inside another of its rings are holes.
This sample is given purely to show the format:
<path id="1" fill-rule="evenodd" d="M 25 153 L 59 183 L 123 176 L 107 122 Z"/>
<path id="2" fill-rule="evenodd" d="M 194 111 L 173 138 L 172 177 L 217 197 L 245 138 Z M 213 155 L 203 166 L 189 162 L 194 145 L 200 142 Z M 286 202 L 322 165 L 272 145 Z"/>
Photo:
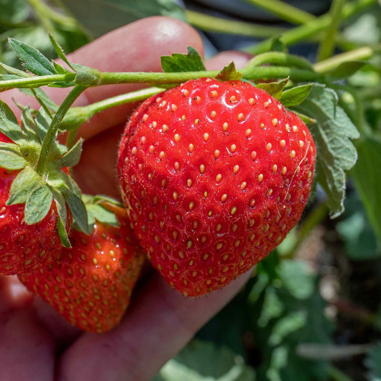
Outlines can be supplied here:
<path id="1" fill-rule="evenodd" d="M 62 104 L 59 106 L 57 112 L 54 115 L 52 122 L 50 123 L 48 132 L 46 133 L 45 139 L 42 143 L 41 152 L 39 160 L 36 165 L 36 172 L 43 175 L 46 169 L 46 164 L 48 161 L 48 156 L 54 139 L 56 138 L 59 125 L 65 114 L 70 109 L 74 101 L 80 96 L 80 94 L 86 89 L 84 86 L 75 86 L 69 95 L 65 98 Z"/>

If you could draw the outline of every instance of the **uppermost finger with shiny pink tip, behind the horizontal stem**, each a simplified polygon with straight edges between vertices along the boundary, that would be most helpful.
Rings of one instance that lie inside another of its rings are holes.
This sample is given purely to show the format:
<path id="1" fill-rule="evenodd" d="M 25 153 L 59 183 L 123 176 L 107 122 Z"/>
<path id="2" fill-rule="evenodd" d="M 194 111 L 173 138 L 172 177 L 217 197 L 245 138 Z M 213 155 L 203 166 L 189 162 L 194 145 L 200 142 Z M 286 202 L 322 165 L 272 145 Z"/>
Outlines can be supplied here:
<path id="1" fill-rule="evenodd" d="M 160 57 L 162 55 L 186 53 L 187 46 L 193 46 L 200 54 L 203 54 L 202 40 L 194 28 L 177 19 L 154 16 L 111 31 L 69 54 L 69 59 L 107 72 L 161 71 Z M 89 88 L 77 100 L 76 105 L 84 106 L 141 87 L 142 85 L 139 84 L 131 84 Z M 51 87 L 45 89 L 58 104 L 70 90 Z M 33 107 L 38 107 L 36 101 L 18 90 L 10 90 L 2 95 L 2 99 L 10 106 L 14 105 L 12 98 L 17 99 L 21 104 L 30 103 Z M 82 126 L 80 135 L 89 138 L 126 121 L 134 107 L 136 105 L 123 105 L 97 114 L 91 119 L 91 123 L 85 123 Z M 20 114 L 17 107 L 14 106 L 13 109 L 18 115 Z"/>

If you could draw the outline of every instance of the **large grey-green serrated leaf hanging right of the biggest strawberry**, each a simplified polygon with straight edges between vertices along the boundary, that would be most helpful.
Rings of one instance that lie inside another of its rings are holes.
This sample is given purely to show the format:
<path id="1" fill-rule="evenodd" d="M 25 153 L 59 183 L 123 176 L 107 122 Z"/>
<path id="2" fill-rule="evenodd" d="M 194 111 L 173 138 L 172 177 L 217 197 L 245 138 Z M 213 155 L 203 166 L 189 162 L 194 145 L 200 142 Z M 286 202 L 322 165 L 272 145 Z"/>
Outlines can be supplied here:
<path id="1" fill-rule="evenodd" d="M 324 85 L 315 83 L 307 99 L 296 109 L 316 119 L 309 127 L 319 147 L 316 180 L 326 191 L 330 215 L 335 218 L 344 211 L 345 171 L 357 161 L 356 148 L 350 139 L 357 139 L 360 134 L 337 105 L 335 91 Z"/>

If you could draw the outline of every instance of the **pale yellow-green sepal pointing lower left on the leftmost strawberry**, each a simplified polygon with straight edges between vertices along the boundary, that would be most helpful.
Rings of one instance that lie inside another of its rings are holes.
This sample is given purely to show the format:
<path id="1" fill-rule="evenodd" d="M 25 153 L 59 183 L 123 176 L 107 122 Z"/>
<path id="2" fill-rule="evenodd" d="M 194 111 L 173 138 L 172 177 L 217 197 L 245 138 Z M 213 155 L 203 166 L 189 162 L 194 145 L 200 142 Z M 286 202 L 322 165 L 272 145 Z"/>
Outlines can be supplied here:
<path id="1" fill-rule="evenodd" d="M 40 176 L 29 166 L 25 167 L 12 181 L 7 205 L 24 204 L 33 190 L 40 184 Z"/>

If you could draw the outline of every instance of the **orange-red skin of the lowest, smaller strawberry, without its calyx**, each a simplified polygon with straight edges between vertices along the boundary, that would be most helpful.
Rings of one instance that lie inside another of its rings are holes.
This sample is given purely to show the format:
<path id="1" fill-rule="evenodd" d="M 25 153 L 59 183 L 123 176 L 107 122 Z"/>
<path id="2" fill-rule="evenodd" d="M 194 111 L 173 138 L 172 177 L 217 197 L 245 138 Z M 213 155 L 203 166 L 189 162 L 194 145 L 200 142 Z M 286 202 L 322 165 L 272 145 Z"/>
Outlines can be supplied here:
<path id="1" fill-rule="evenodd" d="M 27 289 L 79 329 L 115 327 L 130 303 L 144 255 L 124 209 L 113 207 L 120 227 L 96 223 L 88 236 L 72 231 L 72 248 L 34 274 L 20 275 Z"/>

